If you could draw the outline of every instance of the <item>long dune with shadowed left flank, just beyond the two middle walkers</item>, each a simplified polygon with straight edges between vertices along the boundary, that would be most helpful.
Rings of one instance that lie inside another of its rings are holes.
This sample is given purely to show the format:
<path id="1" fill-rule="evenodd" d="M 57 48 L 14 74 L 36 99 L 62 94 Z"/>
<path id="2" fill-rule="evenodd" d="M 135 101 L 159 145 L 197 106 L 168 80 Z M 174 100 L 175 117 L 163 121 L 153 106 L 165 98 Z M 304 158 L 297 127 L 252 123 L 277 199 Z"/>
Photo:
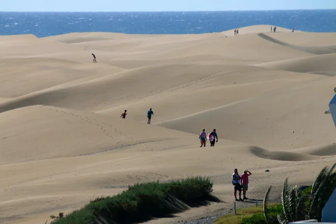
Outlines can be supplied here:
<path id="1" fill-rule="evenodd" d="M 195 70 L 195 68 L 197 68 Z M 221 64 L 159 64 L 143 66 L 111 75 L 96 77 L 66 86 L 51 87 L 0 103 L 0 111 L 34 104 L 68 107 L 73 109 L 106 107 L 127 99 L 139 99 L 162 91 L 191 86 L 215 78 L 226 66 Z M 254 67 L 252 67 L 254 68 Z M 260 70 L 257 67 L 254 69 Z M 250 69 L 251 71 L 251 69 Z M 155 75 L 155 78 L 152 76 Z M 190 83 L 191 81 L 191 83 Z M 121 95 L 125 86 L 132 89 Z M 82 99 L 85 100 L 82 100 Z M 96 109 L 97 110 L 97 109 Z"/>

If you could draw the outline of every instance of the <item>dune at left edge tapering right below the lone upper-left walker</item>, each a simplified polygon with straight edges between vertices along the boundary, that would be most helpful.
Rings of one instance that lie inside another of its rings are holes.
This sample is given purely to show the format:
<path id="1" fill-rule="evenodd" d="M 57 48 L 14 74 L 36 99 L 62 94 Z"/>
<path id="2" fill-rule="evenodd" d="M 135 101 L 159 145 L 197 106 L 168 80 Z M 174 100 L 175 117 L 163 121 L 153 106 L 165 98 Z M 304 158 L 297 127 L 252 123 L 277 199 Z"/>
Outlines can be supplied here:
<path id="1" fill-rule="evenodd" d="M 36 95 L 41 91 L 61 89 L 125 69 L 111 65 L 80 64 L 52 58 L 9 58 L 1 60 L 0 95 L 6 98 Z M 25 74 L 25 75 L 22 75 Z M 69 75 L 71 74 L 71 75 Z"/>

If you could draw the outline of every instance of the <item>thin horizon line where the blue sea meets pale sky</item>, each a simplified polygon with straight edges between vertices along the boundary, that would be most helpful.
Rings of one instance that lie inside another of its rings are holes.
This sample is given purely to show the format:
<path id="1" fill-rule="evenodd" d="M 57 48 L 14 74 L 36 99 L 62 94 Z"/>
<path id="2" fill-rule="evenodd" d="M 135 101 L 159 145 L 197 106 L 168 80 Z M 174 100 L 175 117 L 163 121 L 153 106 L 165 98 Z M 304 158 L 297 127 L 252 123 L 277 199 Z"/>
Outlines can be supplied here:
<path id="1" fill-rule="evenodd" d="M 256 10 L 157 10 L 157 11 L 0 11 L 4 12 L 113 12 L 113 13 L 129 13 L 129 12 L 260 12 L 260 11 L 312 11 L 312 10 L 336 10 L 336 8 L 316 8 L 316 9 L 256 9 Z"/>

